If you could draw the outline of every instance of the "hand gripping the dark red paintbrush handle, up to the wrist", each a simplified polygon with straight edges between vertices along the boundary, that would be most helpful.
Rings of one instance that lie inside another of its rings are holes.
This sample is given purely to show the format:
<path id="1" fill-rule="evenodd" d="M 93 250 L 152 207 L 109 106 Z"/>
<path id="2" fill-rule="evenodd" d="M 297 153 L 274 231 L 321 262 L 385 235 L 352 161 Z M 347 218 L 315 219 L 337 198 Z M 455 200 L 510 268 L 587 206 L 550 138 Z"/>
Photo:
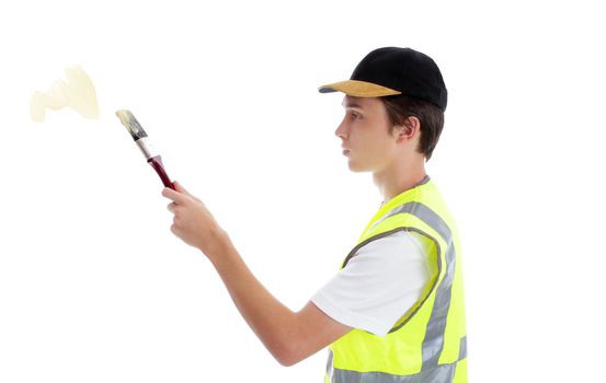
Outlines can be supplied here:
<path id="1" fill-rule="evenodd" d="M 162 196 L 172 200 L 168 206 L 174 214 L 171 231 L 206 256 L 213 255 L 222 246 L 227 234 L 198 198 L 178 182 L 174 182 L 174 188 L 176 192 L 168 187 L 162 190 Z"/>

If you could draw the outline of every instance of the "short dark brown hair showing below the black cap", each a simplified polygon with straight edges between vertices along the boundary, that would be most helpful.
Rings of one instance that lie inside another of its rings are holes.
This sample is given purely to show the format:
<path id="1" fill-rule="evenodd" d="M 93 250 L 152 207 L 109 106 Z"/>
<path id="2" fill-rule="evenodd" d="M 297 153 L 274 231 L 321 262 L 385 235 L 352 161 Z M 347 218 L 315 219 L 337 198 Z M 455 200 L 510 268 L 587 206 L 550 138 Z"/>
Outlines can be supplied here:
<path id="1" fill-rule="evenodd" d="M 414 116 L 421 121 L 421 138 L 416 150 L 425 155 L 426 161 L 437 144 L 444 128 L 444 112 L 427 101 L 403 94 L 378 97 L 386 111 L 390 123 L 389 134 L 393 128 L 409 124 L 409 117 Z"/>

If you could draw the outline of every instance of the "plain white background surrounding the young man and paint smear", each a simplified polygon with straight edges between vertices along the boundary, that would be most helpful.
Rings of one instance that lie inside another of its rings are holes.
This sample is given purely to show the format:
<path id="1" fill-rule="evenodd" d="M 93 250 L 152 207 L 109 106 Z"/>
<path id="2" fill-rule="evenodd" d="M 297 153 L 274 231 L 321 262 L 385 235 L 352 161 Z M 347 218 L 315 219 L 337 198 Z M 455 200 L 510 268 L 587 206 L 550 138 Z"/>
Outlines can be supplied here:
<path id="1" fill-rule="evenodd" d="M 129 108 L 293 310 L 380 202 L 334 129 L 371 49 L 449 90 L 427 172 L 457 218 L 473 382 L 586 381 L 604 344 L 604 12 L 597 1 L 14 1 L 0 5 L 0 382 L 320 382 L 281 367 L 114 116 Z M 30 119 L 80 65 L 101 118 Z"/>

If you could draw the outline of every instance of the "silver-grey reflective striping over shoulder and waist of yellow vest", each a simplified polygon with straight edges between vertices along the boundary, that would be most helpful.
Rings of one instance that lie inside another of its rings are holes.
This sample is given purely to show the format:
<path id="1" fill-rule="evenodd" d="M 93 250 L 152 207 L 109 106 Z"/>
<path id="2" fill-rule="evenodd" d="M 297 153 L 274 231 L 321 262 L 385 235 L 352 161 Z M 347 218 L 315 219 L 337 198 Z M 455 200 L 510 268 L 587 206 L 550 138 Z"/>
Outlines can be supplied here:
<path id="1" fill-rule="evenodd" d="M 408 202 L 388 211 L 380 220 L 375 222 L 371 228 L 389 217 L 399 213 L 410 213 L 415 216 L 428 227 L 435 230 L 447 244 L 446 269 L 445 275 L 436 292 L 432 314 L 427 322 L 425 338 L 423 339 L 423 365 L 421 372 L 414 375 L 392 375 L 382 372 L 357 372 L 350 370 L 333 369 L 332 382 L 335 383 L 442 383 L 451 382 L 455 375 L 457 362 L 448 364 L 438 364 L 437 361 L 444 349 L 444 334 L 446 330 L 446 318 L 450 306 L 450 295 L 453 279 L 455 277 L 455 246 L 453 244 L 453 233 L 446 222 L 432 209 L 420 202 Z M 371 230 L 371 229 L 370 229 Z M 459 360 L 467 357 L 467 338 L 460 340 Z M 332 353 L 330 355 L 332 361 Z M 331 363 L 332 364 L 332 363 Z M 331 365 L 332 368 L 332 365 Z"/>

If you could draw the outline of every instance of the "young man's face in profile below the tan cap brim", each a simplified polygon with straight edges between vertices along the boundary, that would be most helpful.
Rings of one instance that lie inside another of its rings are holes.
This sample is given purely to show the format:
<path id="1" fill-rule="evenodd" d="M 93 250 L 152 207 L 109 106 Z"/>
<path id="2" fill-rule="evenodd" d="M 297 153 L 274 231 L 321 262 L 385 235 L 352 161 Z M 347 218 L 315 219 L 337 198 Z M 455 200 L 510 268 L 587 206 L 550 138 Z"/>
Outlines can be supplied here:
<path id="1" fill-rule="evenodd" d="M 343 140 L 352 172 L 377 172 L 396 156 L 396 138 L 389 134 L 389 118 L 377 97 L 343 98 L 345 117 L 335 135 Z"/>

